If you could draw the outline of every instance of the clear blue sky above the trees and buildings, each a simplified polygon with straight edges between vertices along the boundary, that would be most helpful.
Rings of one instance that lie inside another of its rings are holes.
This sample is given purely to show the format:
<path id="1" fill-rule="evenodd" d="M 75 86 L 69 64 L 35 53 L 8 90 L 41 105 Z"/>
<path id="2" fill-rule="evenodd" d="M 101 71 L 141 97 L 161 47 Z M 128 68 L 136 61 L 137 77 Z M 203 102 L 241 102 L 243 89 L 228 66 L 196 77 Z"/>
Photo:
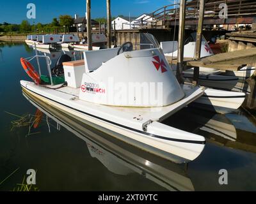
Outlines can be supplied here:
<path id="1" fill-rule="evenodd" d="M 92 1 L 92 18 L 106 17 L 106 0 Z M 9 22 L 19 24 L 26 18 L 27 4 L 36 5 L 36 19 L 33 22 L 43 24 L 52 21 L 52 18 L 60 15 L 72 15 L 77 13 L 84 16 L 86 11 L 86 0 L 9 0 L 0 2 L 0 23 Z M 172 0 L 111 0 L 111 11 L 113 16 L 126 15 L 138 16 L 141 13 L 151 13 L 162 6 L 172 4 Z"/>

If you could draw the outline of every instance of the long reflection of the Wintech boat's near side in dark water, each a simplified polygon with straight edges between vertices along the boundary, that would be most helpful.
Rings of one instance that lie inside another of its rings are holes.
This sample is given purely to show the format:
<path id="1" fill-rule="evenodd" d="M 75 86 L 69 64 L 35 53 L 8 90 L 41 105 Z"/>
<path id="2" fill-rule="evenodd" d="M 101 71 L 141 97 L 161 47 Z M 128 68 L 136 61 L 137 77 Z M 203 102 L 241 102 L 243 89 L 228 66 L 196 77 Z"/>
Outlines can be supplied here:
<path id="1" fill-rule="evenodd" d="M 25 90 L 23 95 L 47 117 L 86 142 L 90 155 L 98 159 L 109 171 L 118 175 L 138 173 L 170 191 L 194 191 L 191 180 L 186 176 L 184 165 L 171 163 L 90 128 L 67 113 L 36 99 Z"/>

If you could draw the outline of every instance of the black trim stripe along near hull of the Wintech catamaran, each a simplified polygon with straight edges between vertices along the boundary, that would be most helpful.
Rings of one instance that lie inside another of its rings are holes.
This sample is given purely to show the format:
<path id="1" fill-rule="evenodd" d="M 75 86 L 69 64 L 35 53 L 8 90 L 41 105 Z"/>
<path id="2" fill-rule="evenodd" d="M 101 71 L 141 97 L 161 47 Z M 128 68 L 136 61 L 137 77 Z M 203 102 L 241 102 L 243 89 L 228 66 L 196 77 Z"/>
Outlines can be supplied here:
<path id="1" fill-rule="evenodd" d="M 24 87 L 23 85 L 21 85 L 21 86 Z M 24 89 L 28 89 L 28 88 L 27 88 L 27 87 L 24 87 Z M 28 91 L 31 91 L 31 90 L 28 89 Z M 38 94 L 38 93 L 36 93 L 36 92 L 34 92 L 34 91 L 31 91 L 31 92 L 33 92 L 34 94 L 37 94 L 38 96 L 42 96 L 41 94 Z M 65 106 L 65 107 L 67 107 L 67 108 L 70 108 L 70 109 L 72 109 L 72 110 L 75 110 L 75 111 L 77 111 L 77 112 L 80 112 L 80 113 L 83 113 L 83 114 L 88 115 L 88 116 L 90 116 L 90 117 L 93 117 L 93 118 L 95 118 L 95 119 L 102 120 L 102 121 L 104 121 L 104 122 L 108 122 L 108 123 L 113 124 L 113 125 L 115 125 L 115 126 L 119 126 L 120 128 L 129 129 L 130 131 L 134 131 L 134 132 L 140 133 L 140 134 L 142 134 L 142 135 L 151 136 L 151 137 L 158 138 L 158 139 L 161 139 L 161 140 L 169 140 L 169 141 L 172 141 L 172 142 L 194 143 L 194 144 L 200 144 L 200 145 L 205 145 L 205 143 L 206 143 L 205 140 L 204 140 L 204 141 L 182 140 L 182 139 L 176 139 L 176 138 L 166 138 L 166 137 L 164 137 L 164 136 L 159 136 L 159 135 L 154 135 L 154 134 L 151 134 L 151 133 L 146 133 L 146 132 L 144 132 L 144 131 L 140 131 L 140 130 L 138 130 L 138 129 L 130 128 L 130 127 L 128 127 L 128 126 L 124 126 L 124 125 L 122 125 L 122 124 L 118 124 L 118 123 L 116 123 L 116 122 L 112 122 L 112 121 L 107 120 L 107 119 L 102 119 L 101 117 L 98 117 L 98 116 L 96 116 L 96 115 L 92 115 L 92 114 L 90 114 L 90 113 L 86 113 L 86 112 L 83 112 L 83 111 L 81 111 L 81 110 L 77 110 L 76 108 L 72 108 L 72 107 L 70 107 L 70 106 L 67 106 L 67 105 L 65 105 L 65 104 L 63 104 L 63 103 L 60 103 L 60 102 L 58 102 L 58 101 L 54 101 L 54 100 L 52 100 L 52 99 L 50 99 L 50 98 L 47 98 L 47 97 L 45 97 L 45 96 L 42 96 L 42 97 L 43 97 L 43 98 L 46 98 L 46 99 L 49 99 L 50 101 L 53 101 L 53 102 L 58 103 L 58 104 L 60 104 L 60 105 L 63 105 L 63 106 Z"/>

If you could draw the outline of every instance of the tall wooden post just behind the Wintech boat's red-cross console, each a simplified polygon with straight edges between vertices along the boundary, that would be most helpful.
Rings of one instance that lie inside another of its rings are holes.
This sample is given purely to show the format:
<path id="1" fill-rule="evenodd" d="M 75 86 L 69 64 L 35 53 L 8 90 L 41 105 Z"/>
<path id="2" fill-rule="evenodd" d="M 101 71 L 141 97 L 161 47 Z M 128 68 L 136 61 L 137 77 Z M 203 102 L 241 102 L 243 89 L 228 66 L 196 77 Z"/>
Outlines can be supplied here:
<path id="1" fill-rule="evenodd" d="M 182 71 L 184 66 L 184 33 L 185 33 L 185 15 L 186 15 L 185 0 L 180 0 L 179 11 L 179 37 L 178 37 L 178 61 L 176 77 L 180 84 L 184 83 Z"/>

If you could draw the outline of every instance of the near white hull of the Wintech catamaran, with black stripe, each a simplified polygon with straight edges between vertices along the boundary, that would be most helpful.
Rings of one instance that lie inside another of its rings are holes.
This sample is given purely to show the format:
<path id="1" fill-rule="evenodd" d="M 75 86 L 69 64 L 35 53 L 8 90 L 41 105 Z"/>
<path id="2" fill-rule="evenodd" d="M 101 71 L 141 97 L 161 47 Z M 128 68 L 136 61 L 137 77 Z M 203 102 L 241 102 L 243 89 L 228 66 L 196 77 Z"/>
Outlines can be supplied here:
<path id="1" fill-rule="evenodd" d="M 118 115 L 115 115 L 115 117 L 109 115 L 109 119 L 103 118 L 103 115 L 100 115 L 99 110 L 104 110 L 103 105 L 93 105 L 95 106 L 94 111 L 99 114 L 92 114 L 86 112 L 88 107 L 81 108 L 81 106 L 76 106 L 76 100 L 72 100 L 70 96 L 66 100 L 67 94 L 61 94 L 60 92 L 56 94 L 57 91 L 31 85 L 31 82 L 21 81 L 20 83 L 22 90 L 27 94 L 40 99 L 40 101 L 44 101 L 44 103 L 54 108 L 58 108 L 58 110 L 84 122 L 84 124 L 175 163 L 193 161 L 204 150 L 205 138 L 202 136 L 181 131 L 156 121 L 148 124 L 147 131 L 135 125 L 132 127 L 120 124 L 121 122 L 118 124 L 115 122 L 115 119 L 118 119 Z M 52 93 L 49 94 L 49 92 Z M 63 95 L 61 99 L 56 96 L 60 94 Z M 92 103 L 86 104 L 92 106 Z M 123 111 L 121 110 L 121 112 Z M 124 119 L 120 117 L 119 120 L 122 121 Z"/>

